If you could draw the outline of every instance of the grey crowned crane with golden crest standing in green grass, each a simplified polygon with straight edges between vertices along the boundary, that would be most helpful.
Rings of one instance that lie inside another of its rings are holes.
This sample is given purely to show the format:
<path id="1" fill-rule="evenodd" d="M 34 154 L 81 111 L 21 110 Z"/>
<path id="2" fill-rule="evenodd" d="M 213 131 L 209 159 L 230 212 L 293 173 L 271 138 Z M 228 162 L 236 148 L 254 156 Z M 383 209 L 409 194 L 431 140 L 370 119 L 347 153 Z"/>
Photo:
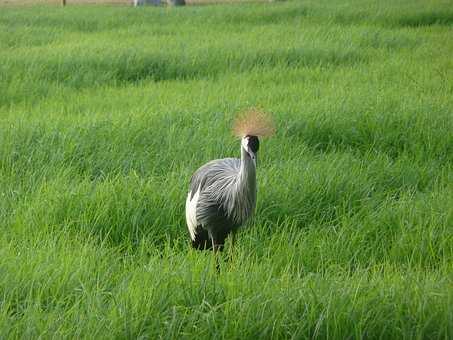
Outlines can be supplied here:
<path id="1" fill-rule="evenodd" d="M 260 138 L 274 133 L 273 122 L 269 114 L 252 108 L 236 119 L 233 131 L 241 140 L 241 158 L 212 160 L 190 180 L 186 222 L 198 250 L 222 251 L 230 234 L 234 246 L 236 232 L 255 211 Z"/>

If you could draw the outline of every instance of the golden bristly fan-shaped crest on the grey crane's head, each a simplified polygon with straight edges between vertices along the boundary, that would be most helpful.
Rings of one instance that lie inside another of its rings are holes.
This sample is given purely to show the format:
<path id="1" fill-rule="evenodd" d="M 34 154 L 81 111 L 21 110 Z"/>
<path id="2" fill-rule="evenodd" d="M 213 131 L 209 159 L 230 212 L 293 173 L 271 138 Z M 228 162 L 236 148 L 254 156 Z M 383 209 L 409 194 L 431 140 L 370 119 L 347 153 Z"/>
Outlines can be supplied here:
<path id="1" fill-rule="evenodd" d="M 233 125 L 233 133 L 239 138 L 247 135 L 270 137 L 275 133 L 275 125 L 269 113 L 251 108 L 238 115 Z"/>

